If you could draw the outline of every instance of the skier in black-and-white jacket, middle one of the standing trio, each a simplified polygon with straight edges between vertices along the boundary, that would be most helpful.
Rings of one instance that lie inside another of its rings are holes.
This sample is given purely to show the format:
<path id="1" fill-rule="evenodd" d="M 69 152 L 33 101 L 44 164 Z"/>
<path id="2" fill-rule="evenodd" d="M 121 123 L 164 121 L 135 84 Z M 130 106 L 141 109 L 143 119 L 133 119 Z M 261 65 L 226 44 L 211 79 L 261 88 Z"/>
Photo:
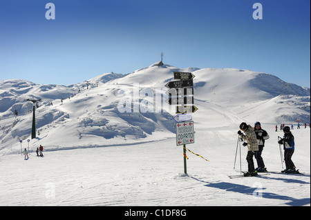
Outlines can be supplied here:
<path id="1" fill-rule="evenodd" d="M 265 140 L 269 139 L 270 137 L 269 134 L 267 134 L 267 132 L 261 128 L 261 123 L 259 121 L 255 123 L 254 128 L 259 148 L 259 150 L 255 152 L 255 158 L 258 165 L 256 170 L 257 172 L 267 172 L 265 163 L 263 163 L 263 157 L 261 157 L 261 153 L 263 152 L 263 147 L 265 146 Z"/>

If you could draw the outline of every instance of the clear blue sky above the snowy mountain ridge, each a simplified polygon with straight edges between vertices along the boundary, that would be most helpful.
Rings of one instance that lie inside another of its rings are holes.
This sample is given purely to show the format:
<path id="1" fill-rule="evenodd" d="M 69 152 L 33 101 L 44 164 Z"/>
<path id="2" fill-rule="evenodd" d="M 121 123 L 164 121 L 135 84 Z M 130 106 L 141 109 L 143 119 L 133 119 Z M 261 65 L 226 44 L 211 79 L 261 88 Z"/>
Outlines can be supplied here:
<path id="1" fill-rule="evenodd" d="M 0 81 L 69 85 L 150 66 L 161 52 L 180 68 L 254 70 L 310 88 L 310 1 L 0 1 Z"/>

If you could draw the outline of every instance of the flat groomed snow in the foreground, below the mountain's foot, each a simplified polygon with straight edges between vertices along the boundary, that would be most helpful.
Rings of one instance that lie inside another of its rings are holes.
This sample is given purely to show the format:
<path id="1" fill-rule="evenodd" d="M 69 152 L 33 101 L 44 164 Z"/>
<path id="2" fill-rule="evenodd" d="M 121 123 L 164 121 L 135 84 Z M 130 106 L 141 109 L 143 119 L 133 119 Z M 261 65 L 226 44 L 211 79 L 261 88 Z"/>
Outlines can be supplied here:
<path id="1" fill-rule="evenodd" d="M 267 169 L 280 171 L 277 136 L 263 151 Z M 1 206 L 310 206 L 310 128 L 294 130 L 293 161 L 308 175 L 272 173 L 229 179 L 233 170 L 238 128 L 198 130 L 187 152 L 183 174 L 182 147 L 172 135 L 164 141 L 133 145 L 46 150 L 1 157 Z M 247 170 L 241 147 L 242 170 Z M 256 162 L 255 162 L 256 164 Z M 239 171 L 239 158 L 236 170 Z"/>

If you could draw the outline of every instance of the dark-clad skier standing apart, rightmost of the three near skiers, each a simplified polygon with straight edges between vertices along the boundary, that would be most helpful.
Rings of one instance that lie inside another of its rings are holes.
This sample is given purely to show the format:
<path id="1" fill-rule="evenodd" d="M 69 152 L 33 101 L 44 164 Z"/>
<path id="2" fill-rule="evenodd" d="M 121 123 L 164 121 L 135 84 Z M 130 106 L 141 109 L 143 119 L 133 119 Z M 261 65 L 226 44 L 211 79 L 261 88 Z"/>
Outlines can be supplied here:
<path id="1" fill-rule="evenodd" d="M 294 154 L 295 149 L 294 135 L 292 135 L 292 132 L 290 132 L 290 127 L 288 126 L 285 126 L 285 128 L 283 128 L 283 132 L 284 137 L 283 139 L 279 140 L 279 144 L 283 144 L 286 169 L 282 170 L 282 172 L 296 173 L 296 167 L 292 162 L 292 154 Z"/>

